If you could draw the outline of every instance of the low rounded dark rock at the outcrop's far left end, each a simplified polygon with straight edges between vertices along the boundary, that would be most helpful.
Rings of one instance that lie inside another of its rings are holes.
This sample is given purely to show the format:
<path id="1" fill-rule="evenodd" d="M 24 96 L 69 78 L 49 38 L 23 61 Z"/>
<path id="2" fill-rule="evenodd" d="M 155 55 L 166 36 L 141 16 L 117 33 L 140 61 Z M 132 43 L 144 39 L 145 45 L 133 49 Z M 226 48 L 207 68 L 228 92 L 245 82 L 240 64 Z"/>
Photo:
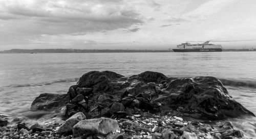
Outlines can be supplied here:
<path id="1" fill-rule="evenodd" d="M 58 112 L 69 102 L 69 94 L 40 94 L 31 104 L 31 110 L 47 110 Z"/>

